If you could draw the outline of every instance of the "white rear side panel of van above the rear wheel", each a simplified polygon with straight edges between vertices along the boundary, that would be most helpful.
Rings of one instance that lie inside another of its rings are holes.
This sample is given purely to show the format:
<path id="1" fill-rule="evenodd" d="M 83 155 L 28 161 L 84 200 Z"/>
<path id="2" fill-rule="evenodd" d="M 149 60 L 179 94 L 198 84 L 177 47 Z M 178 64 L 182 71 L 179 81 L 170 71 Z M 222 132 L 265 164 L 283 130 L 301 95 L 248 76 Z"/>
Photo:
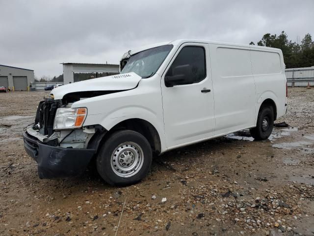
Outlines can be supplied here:
<path id="1" fill-rule="evenodd" d="M 272 99 L 277 108 L 277 118 L 286 114 L 286 76 L 281 51 L 251 49 L 252 72 L 257 97 L 256 118 L 262 102 Z"/>

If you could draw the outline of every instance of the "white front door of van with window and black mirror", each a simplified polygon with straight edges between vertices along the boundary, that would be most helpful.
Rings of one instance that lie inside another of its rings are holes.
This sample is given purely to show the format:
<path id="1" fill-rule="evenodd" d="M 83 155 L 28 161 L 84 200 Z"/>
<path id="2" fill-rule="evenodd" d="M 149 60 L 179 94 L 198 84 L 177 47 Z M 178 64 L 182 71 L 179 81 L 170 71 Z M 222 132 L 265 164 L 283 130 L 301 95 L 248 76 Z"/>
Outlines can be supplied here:
<path id="1" fill-rule="evenodd" d="M 161 77 L 168 148 L 214 135 L 214 100 L 207 44 L 181 45 Z"/>

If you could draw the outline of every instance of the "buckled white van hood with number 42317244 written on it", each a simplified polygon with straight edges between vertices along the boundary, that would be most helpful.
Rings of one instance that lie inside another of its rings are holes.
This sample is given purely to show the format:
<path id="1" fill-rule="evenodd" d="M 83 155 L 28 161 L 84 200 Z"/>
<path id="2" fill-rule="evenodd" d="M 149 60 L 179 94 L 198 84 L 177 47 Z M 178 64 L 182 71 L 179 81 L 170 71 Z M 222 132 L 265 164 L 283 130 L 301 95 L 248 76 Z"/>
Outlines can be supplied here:
<path id="1" fill-rule="evenodd" d="M 62 99 L 65 94 L 79 91 L 111 91 L 134 89 L 142 77 L 134 72 L 105 76 L 63 85 L 52 89 L 54 99 Z"/>

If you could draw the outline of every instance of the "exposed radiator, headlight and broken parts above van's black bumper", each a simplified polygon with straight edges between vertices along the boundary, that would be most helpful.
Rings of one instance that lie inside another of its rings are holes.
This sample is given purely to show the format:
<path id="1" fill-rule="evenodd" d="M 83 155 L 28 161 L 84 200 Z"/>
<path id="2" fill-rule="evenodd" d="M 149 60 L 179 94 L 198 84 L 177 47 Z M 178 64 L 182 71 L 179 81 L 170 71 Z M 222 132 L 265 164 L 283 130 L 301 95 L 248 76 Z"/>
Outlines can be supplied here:
<path id="1" fill-rule="evenodd" d="M 87 148 L 96 132 L 95 126 L 82 127 L 87 109 L 72 109 L 71 105 L 45 98 L 38 105 L 35 123 L 26 127 L 26 132 L 50 146 Z"/>

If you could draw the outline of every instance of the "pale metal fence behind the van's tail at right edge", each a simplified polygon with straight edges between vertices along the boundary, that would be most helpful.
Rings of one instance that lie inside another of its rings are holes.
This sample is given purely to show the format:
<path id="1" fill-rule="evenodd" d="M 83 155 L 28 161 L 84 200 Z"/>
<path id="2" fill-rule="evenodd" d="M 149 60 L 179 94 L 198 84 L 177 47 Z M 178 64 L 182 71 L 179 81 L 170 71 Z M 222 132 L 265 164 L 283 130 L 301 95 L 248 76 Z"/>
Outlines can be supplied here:
<path id="1" fill-rule="evenodd" d="M 286 77 L 288 86 L 307 86 L 308 83 L 310 83 L 310 86 L 313 86 L 314 66 L 286 69 Z"/>

